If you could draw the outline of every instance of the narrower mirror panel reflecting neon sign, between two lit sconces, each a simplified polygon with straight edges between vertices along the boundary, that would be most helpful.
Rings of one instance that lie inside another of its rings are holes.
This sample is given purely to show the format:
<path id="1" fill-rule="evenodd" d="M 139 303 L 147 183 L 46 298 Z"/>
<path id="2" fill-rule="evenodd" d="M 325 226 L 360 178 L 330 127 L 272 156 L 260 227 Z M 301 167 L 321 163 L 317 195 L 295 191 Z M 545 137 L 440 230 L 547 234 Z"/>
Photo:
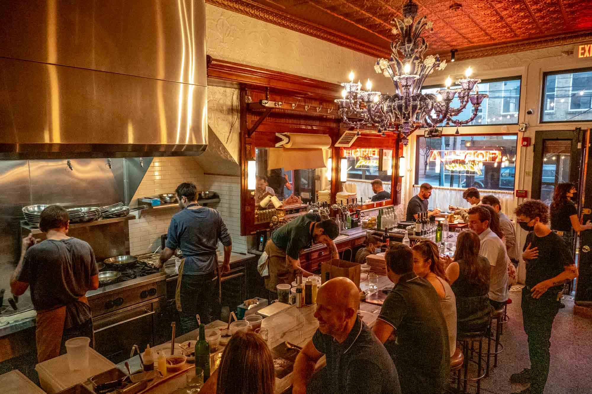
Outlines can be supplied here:
<path id="1" fill-rule="evenodd" d="M 343 195 L 364 204 L 391 200 L 392 149 L 344 148 L 342 158 L 347 161 Z"/>

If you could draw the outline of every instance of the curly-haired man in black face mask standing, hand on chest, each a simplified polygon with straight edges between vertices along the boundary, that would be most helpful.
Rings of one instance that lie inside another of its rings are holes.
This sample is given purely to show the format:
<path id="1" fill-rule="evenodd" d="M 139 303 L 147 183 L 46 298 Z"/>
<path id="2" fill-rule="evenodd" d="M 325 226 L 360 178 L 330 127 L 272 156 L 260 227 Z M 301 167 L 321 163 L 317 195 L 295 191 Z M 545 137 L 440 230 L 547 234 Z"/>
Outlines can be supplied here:
<path id="1" fill-rule="evenodd" d="M 530 200 L 514 211 L 518 224 L 530 231 L 522 258 L 526 261 L 526 286 L 522 289 L 522 317 L 528 336 L 530 369 L 514 373 L 511 383 L 530 383 L 520 393 L 542 393 L 549 375 L 551 328 L 559 310 L 558 299 L 565 280 L 578 276 L 570 248 L 552 232 L 549 208 L 539 200 Z"/>

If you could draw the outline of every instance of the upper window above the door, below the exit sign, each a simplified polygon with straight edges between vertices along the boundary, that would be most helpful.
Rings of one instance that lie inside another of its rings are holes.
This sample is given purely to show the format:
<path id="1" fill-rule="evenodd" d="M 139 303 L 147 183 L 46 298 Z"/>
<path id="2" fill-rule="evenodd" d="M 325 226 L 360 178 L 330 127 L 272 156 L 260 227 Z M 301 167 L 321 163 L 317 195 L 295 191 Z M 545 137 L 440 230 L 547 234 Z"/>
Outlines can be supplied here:
<path id="1" fill-rule="evenodd" d="M 592 70 L 545 73 L 543 83 L 542 122 L 592 120 Z"/>

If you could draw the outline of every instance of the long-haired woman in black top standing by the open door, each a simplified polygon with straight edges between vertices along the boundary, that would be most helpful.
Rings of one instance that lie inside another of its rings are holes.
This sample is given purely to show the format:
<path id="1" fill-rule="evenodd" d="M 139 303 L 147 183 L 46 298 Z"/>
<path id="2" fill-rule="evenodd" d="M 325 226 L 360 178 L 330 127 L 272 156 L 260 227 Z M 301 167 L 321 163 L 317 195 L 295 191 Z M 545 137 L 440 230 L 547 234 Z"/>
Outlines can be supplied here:
<path id="1" fill-rule="evenodd" d="M 573 230 L 580 232 L 590 230 L 592 224 L 590 221 L 584 225 L 580 224 L 578 219 L 578 210 L 571 198 L 577 193 L 573 183 L 558 183 L 553 194 L 553 202 L 551 203 L 551 230 L 555 231 L 561 236 L 570 250 L 574 248 L 574 233 Z"/>

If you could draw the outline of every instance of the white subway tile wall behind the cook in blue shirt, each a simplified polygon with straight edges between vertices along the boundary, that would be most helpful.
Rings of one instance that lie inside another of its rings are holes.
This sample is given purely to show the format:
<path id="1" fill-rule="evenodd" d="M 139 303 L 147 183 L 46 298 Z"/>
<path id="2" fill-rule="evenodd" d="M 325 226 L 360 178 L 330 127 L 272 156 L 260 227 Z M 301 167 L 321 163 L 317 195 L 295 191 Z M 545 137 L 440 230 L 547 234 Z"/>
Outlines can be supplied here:
<path id="1" fill-rule="evenodd" d="M 144 196 L 173 193 L 181 182 L 194 182 L 198 189 L 220 195 L 220 203 L 209 206 L 217 209 L 224 219 L 233 240 L 233 251 L 246 252 L 246 237 L 240 236 L 240 177 L 204 175 L 192 157 L 155 157 L 130 205 L 137 205 L 137 199 Z M 178 211 L 145 209 L 141 218 L 130 220 L 130 253 L 155 251 L 160 246 L 160 235 L 168 231 L 170 219 Z"/>

